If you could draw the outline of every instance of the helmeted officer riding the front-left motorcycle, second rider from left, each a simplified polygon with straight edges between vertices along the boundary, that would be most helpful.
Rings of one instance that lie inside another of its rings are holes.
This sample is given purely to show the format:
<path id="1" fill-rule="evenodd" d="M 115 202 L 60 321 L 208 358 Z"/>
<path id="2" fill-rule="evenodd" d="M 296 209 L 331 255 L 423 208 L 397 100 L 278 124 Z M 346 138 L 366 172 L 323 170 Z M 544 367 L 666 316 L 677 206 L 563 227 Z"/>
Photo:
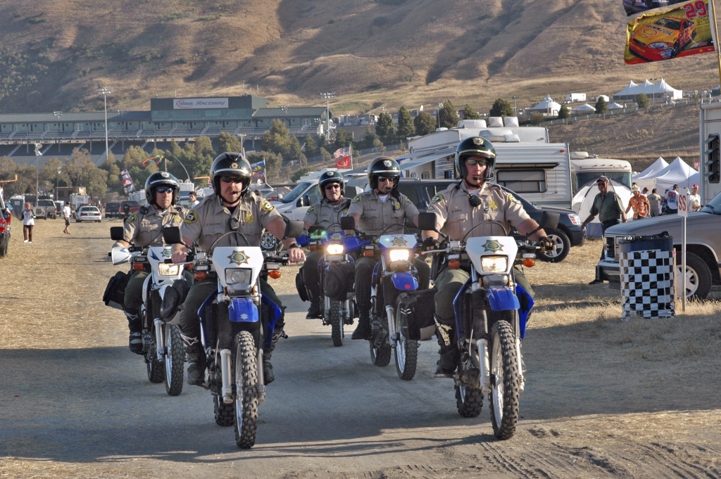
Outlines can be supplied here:
<path id="1" fill-rule="evenodd" d="M 181 228 L 183 241 L 187 245 L 196 243 L 200 249 L 211 255 L 213 251 L 210 251 L 210 248 L 213 242 L 231 231 L 241 234 L 225 236 L 216 246 L 260 246 L 260 235 L 265 228 L 283 240 L 283 244 L 288 247 L 288 258 L 291 263 L 303 261 L 305 254 L 300 246 L 293 238 L 285 239 L 286 221 L 278 210 L 275 210 L 275 207 L 260 194 L 249 191 L 251 179 L 251 166 L 242 153 L 228 152 L 219 155 L 211 165 L 210 182 L 213 185 L 213 194 L 205 197 L 195 210 L 188 212 Z M 175 244 L 172 251 L 172 261 L 182 263 L 189 249 L 181 244 Z M 214 277 L 195 282 L 190 287 L 185 302 L 179 308 L 180 332 L 190 363 L 187 377 L 191 385 L 203 385 L 205 375 L 205 352 L 200 343 L 198 308 L 212 292 L 216 291 L 216 288 L 217 279 Z M 260 290 L 284 310 L 273 288 L 263 279 L 260 279 Z M 273 334 L 273 346 L 270 351 L 263 354 L 263 375 L 266 384 L 275 379 L 270 356 L 275 349 L 275 343 L 283 335 L 284 318 L 284 313 L 278 318 Z"/>

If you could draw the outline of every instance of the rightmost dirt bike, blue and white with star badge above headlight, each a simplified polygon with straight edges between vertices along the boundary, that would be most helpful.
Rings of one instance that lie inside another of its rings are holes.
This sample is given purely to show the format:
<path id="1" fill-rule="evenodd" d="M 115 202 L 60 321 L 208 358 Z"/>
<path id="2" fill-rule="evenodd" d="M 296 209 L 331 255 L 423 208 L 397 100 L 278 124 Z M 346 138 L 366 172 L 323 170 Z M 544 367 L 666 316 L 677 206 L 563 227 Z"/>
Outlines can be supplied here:
<path id="1" fill-rule="evenodd" d="M 554 229 L 557 213 L 544 212 L 539 228 Z M 435 213 L 420 213 L 421 230 L 436 231 Z M 526 385 L 523 376 L 521 339 L 526 335 L 528 314 L 533 299 L 514 280 L 514 264 L 531 267 L 541 246 L 517 241 L 503 233 L 476 236 L 462 241 L 443 241 L 445 247 L 425 251 L 434 254 L 432 274 L 439 261 L 445 267 L 464 268 L 470 273 L 453 303 L 456 318 L 456 345 L 459 366 L 453 379 L 456 408 L 461 416 L 476 417 L 481 412 L 483 395 L 488 395 L 493 434 L 510 439 L 518 422 L 519 398 Z M 471 233 L 471 231 L 469 231 Z M 466 237 L 468 234 L 466 234 Z"/>

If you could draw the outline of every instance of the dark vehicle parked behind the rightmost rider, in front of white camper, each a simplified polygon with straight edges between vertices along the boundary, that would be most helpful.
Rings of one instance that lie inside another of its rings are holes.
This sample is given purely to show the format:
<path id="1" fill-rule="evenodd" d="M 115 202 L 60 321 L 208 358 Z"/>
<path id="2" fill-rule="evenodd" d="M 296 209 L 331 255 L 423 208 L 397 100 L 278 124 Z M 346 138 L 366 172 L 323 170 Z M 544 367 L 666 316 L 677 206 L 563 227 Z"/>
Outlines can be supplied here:
<path id="1" fill-rule="evenodd" d="M 398 189 L 405 194 L 409 200 L 414 202 L 419 210 L 425 211 L 428 205 L 430 205 L 431 198 L 433 198 L 435 194 L 447 189 L 449 185 L 458 184 L 458 182 L 459 180 L 457 179 L 402 178 L 398 184 Z M 503 188 L 505 192 L 513 194 L 513 196 L 521 202 L 528 216 L 536 221 L 541 220 L 541 215 L 543 215 L 544 211 L 559 213 L 558 228 L 546 231 L 549 238 L 556 242 L 556 251 L 539 254 L 539 259 L 552 263 L 563 261 L 570 253 L 572 246 L 580 246 L 585 242 L 585 232 L 580 228 L 582 221 L 575 211 L 558 207 L 536 206 L 520 194 L 512 192 L 506 187 L 501 188 Z"/>

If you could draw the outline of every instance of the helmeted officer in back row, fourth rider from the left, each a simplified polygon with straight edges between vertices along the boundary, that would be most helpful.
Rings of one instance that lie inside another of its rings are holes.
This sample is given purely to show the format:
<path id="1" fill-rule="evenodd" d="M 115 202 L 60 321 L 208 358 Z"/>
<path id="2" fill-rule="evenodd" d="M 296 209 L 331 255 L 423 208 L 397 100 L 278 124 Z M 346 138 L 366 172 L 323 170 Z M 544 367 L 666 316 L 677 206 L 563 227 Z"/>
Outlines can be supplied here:
<path id="1" fill-rule="evenodd" d="M 398 191 L 401 169 L 389 156 L 379 156 L 368 166 L 371 190 L 358 194 L 350 202 L 348 215 L 355 219 L 356 228 L 368 236 L 404 233 L 407 221 L 418 224 L 418 208 Z M 355 264 L 355 302 L 358 303 L 358 327 L 350 339 L 371 339 L 371 282 L 373 267 L 379 258 L 363 256 Z M 416 259 L 418 285 L 428 289 L 430 268 Z"/>

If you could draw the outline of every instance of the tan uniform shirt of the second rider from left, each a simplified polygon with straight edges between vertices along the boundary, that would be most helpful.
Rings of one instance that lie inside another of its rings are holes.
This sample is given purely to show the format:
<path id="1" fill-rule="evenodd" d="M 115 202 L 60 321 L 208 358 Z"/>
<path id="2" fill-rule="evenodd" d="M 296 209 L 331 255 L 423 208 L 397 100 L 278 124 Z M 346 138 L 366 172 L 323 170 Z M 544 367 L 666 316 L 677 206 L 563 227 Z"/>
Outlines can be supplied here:
<path id="1" fill-rule="evenodd" d="M 193 243 L 198 243 L 203 251 L 212 253 L 209 249 L 213 242 L 229 233 L 231 223 L 237 221 L 237 231 L 244 237 L 239 234 L 228 235 L 218 241 L 216 246 L 260 246 L 262 230 L 275 218 L 281 218 L 278 210 L 255 192 L 246 194 L 232 215 L 221 204 L 220 198 L 211 194 L 195 210 L 188 212 L 181 233 Z"/>

